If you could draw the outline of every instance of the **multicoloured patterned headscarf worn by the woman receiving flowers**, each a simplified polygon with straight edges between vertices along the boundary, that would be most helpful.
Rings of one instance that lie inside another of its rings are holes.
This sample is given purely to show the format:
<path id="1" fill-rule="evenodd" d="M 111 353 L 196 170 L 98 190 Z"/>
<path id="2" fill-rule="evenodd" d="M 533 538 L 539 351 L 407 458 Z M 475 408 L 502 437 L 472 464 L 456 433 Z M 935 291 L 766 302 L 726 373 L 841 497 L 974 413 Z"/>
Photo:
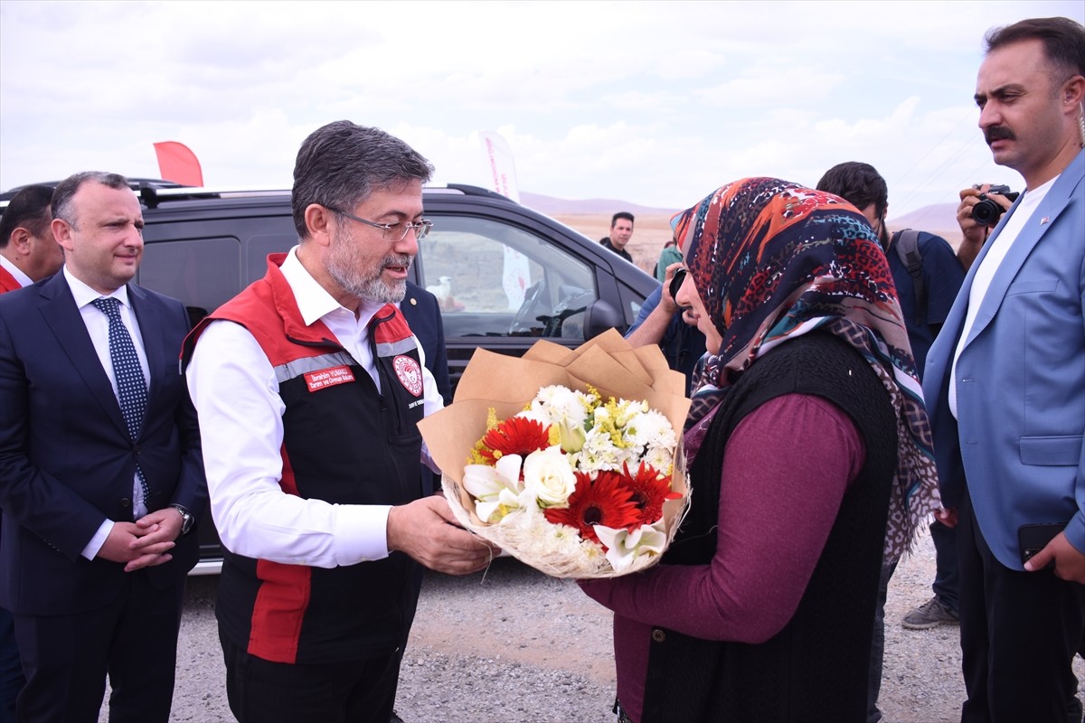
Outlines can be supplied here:
<path id="1" fill-rule="evenodd" d="M 910 550 L 941 506 L 922 388 L 889 262 L 866 219 L 838 196 L 774 178 L 728 183 L 671 220 L 689 274 L 723 337 L 693 382 L 687 427 L 755 359 L 819 330 L 851 344 L 889 392 L 897 469 L 885 556 Z"/>

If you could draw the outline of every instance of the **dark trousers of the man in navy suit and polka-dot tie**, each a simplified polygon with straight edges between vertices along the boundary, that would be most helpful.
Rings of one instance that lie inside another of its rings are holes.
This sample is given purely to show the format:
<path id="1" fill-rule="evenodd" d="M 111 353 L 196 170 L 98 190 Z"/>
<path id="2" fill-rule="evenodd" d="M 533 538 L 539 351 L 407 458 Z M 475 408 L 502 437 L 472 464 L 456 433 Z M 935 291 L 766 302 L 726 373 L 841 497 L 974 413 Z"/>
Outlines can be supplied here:
<path id="1" fill-rule="evenodd" d="M 20 723 L 95 723 L 110 677 L 110 723 L 167 723 L 174 700 L 183 578 L 158 590 L 141 570 L 98 610 L 15 616 L 26 685 Z"/>

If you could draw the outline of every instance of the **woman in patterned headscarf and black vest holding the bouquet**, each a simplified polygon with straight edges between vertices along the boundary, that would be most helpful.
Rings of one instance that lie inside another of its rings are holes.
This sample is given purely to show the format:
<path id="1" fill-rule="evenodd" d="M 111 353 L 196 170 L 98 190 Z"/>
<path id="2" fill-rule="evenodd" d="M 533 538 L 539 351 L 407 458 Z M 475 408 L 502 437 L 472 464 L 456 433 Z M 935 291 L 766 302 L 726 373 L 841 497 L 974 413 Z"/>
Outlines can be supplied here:
<path id="1" fill-rule="evenodd" d="M 884 254 L 853 206 L 778 179 L 672 225 L 710 352 L 690 513 L 660 565 L 582 582 L 615 614 L 620 720 L 863 721 L 883 554 L 939 507 Z"/>

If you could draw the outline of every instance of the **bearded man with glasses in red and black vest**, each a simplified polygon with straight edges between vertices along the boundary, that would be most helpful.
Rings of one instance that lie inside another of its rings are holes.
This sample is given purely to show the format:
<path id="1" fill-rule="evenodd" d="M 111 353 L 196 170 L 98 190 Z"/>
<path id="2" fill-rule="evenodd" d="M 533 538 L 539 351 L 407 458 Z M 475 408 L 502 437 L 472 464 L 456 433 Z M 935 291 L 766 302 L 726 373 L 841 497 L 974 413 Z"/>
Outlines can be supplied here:
<path id="1" fill-rule="evenodd" d="M 395 305 L 430 228 L 432 170 L 379 129 L 315 131 L 294 168 L 301 243 L 186 341 L 242 723 L 387 723 L 414 566 L 468 573 L 490 558 L 419 475 L 417 423 L 442 399 Z"/>

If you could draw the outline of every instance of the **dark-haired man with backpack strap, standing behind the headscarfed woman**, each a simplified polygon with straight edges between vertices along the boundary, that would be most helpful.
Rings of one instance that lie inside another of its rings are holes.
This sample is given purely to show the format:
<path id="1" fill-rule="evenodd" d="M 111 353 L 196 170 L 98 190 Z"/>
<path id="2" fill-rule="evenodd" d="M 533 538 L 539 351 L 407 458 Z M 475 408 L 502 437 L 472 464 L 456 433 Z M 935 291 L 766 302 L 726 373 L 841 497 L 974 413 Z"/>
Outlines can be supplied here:
<path id="1" fill-rule="evenodd" d="M 833 166 L 817 183 L 818 191 L 835 194 L 859 209 L 885 250 L 889 269 L 893 274 L 904 325 L 908 330 L 911 354 L 916 360 L 917 375 L 922 379 L 927 352 L 942 328 L 953 306 L 965 270 L 954 255 L 953 247 L 934 234 L 920 231 L 916 235 L 919 254 L 919 275 L 914 277 L 908 264 L 901 258 L 899 244 L 904 243 L 904 231 L 892 236 L 885 227 L 889 211 L 889 188 L 885 179 L 870 164 L 848 162 Z M 934 597 L 922 606 L 909 611 L 902 624 L 905 628 L 927 629 L 940 624 L 956 624 L 957 616 L 957 551 L 952 528 L 937 520 L 931 524 L 931 538 L 936 553 L 936 574 Z M 870 653 L 869 710 L 867 723 L 881 720 L 878 709 L 878 694 L 881 689 L 882 655 L 885 648 L 885 599 L 889 581 L 893 577 L 897 560 L 885 560 L 882 566 L 881 583 L 878 590 L 878 609 L 875 615 L 875 635 Z"/>

